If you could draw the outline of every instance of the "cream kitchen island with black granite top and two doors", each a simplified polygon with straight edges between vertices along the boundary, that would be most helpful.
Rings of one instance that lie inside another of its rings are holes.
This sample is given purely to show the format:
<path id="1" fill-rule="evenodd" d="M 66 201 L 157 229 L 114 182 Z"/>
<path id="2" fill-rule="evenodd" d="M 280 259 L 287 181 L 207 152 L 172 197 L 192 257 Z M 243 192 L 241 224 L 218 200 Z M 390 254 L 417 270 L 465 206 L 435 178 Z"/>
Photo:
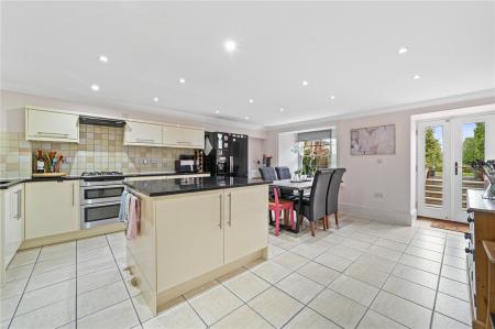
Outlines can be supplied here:
<path id="1" fill-rule="evenodd" d="M 128 240 L 131 284 L 153 315 L 167 301 L 258 259 L 268 244 L 268 184 L 235 177 L 127 182 L 141 199 Z"/>

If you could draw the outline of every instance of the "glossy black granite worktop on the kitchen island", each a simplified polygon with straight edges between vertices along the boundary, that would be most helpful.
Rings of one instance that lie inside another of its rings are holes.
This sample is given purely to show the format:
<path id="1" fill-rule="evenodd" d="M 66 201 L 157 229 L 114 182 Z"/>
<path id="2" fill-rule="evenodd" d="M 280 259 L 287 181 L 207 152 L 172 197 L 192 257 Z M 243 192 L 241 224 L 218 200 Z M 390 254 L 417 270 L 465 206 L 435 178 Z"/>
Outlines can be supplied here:
<path id="1" fill-rule="evenodd" d="M 131 189 L 148 197 L 167 196 L 184 193 L 205 191 L 222 188 L 244 187 L 252 185 L 271 184 L 272 182 L 261 179 L 249 179 L 238 177 L 198 177 L 175 179 L 150 179 L 125 182 Z"/>

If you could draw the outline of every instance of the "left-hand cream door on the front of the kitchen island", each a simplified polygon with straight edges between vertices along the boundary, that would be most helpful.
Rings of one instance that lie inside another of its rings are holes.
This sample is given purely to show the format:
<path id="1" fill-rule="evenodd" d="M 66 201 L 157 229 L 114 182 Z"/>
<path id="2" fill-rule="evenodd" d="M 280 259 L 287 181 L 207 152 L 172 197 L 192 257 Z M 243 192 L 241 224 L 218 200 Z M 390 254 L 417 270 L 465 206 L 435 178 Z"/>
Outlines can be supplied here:
<path id="1" fill-rule="evenodd" d="M 223 190 L 170 196 L 156 204 L 158 290 L 223 264 Z"/>

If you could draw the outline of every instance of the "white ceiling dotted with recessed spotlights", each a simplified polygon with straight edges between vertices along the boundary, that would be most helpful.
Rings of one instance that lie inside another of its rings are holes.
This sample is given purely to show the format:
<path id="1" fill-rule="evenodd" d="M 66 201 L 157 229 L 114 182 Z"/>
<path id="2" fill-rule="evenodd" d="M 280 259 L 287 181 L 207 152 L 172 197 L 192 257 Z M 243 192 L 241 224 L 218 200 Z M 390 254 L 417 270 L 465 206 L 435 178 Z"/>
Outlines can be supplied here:
<path id="1" fill-rule="evenodd" d="M 477 1 L 2 2 L 2 84 L 286 124 L 495 88 L 494 12 Z"/>

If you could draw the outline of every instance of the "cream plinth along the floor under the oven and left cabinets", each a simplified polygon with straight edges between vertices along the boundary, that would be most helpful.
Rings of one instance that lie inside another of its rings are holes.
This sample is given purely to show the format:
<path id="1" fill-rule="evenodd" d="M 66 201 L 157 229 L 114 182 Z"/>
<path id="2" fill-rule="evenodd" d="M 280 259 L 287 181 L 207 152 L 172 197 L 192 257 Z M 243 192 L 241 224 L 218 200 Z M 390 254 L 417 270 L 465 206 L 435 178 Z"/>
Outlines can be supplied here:
<path id="1" fill-rule="evenodd" d="M 68 242 L 68 241 L 77 240 L 77 239 L 85 239 L 85 238 L 91 238 L 91 237 L 97 237 L 97 235 L 102 235 L 102 234 L 108 234 L 108 233 L 113 233 L 113 232 L 120 232 L 123 230 L 124 230 L 124 223 L 122 223 L 122 222 L 110 223 L 110 224 L 96 227 L 96 228 L 91 228 L 91 229 L 86 229 L 86 230 L 78 230 L 78 231 L 63 233 L 63 234 L 24 240 L 21 243 L 21 246 L 19 248 L 19 250 L 37 248 L 37 246 L 61 243 L 61 242 Z"/>

